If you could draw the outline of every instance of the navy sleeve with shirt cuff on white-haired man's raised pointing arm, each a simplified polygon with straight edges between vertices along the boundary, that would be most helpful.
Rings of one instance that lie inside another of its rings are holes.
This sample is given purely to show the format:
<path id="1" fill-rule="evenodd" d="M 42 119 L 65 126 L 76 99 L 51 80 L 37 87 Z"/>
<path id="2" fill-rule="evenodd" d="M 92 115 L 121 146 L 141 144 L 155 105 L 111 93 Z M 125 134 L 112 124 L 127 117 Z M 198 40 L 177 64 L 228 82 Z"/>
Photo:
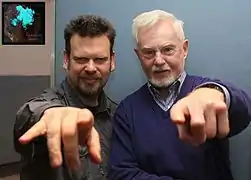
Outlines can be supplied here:
<path id="1" fill-rule="evenodd" d="M 233 84 L 220 80 L 204 79 L 204 82 L 197 87 L 203 87 L 207 84 L 216 84 L 225 93 L 228 105 L 230 133 L 229 137 L 243 131 L 251 120 L 251 98 L 248 94 Z"/>

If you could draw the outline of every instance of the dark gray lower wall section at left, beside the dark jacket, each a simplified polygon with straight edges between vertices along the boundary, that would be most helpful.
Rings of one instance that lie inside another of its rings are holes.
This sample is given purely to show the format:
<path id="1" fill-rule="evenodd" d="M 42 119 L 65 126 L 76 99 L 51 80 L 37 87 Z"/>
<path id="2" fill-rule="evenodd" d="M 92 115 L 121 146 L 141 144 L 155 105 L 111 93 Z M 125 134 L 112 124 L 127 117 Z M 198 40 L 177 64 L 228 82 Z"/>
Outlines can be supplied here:
<path id="1" fill-rule="evenodd" d="M 0 165 L 20 161 L 13 148 L 13 125 L 17 110 L 25 101 L 50 87 L 50 76 L 0 76 Z"/>

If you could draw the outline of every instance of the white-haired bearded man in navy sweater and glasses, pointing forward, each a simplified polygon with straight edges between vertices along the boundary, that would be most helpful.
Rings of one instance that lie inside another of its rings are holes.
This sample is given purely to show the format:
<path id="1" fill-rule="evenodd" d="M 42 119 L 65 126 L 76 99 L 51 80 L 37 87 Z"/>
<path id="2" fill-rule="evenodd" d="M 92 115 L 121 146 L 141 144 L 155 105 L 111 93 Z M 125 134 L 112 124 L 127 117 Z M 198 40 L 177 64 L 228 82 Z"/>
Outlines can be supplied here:
<path id="1" fill-rule="evenodd" d="M 251 120 L 251 100 L 233 85 L 191 76 L 183 22 L 154 10 L 132 25 L 148 83 L 118 106 L 110 180 L 233 180 L 228 137 Z"/>

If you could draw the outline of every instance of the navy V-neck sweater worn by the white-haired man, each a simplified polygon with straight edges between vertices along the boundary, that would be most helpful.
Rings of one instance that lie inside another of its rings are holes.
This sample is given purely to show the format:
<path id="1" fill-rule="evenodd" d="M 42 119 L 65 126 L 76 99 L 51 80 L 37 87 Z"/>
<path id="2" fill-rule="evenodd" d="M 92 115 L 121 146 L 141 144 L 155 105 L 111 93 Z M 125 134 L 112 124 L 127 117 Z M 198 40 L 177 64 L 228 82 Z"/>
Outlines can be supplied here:
<path id="1" fill-rule="evenodd" d="M 196 86 L 212 81 L 187 76 L 177 98 Z M 251 119 L 251 101 L 231 85 L 229 108 L 231 135 L 243 130 Z M 238 121 L 238 123 L 236 123 Z M 228 139 L 208 140 L 192 146 L 178 138 L 169 111 L 153 100 L 147 85 L 123 100 L 114 116 L 110 155 L 110 180 L 232 180 Z"/>

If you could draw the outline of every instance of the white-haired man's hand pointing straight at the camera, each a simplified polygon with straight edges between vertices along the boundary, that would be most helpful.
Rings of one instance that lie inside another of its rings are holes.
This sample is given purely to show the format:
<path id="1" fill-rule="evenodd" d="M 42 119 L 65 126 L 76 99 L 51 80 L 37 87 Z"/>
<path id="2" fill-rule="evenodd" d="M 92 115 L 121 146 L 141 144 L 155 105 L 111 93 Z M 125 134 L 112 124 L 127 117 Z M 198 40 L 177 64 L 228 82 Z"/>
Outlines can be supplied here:
<path id="1" fill-rule="evenodd" d="M 173 105 L 172 121 L 179 137 L 193 144 L 206 139 L 226 137 L 229 133 L 228 108 L 224 94 L 211 88 L 199 88 Z"/>

